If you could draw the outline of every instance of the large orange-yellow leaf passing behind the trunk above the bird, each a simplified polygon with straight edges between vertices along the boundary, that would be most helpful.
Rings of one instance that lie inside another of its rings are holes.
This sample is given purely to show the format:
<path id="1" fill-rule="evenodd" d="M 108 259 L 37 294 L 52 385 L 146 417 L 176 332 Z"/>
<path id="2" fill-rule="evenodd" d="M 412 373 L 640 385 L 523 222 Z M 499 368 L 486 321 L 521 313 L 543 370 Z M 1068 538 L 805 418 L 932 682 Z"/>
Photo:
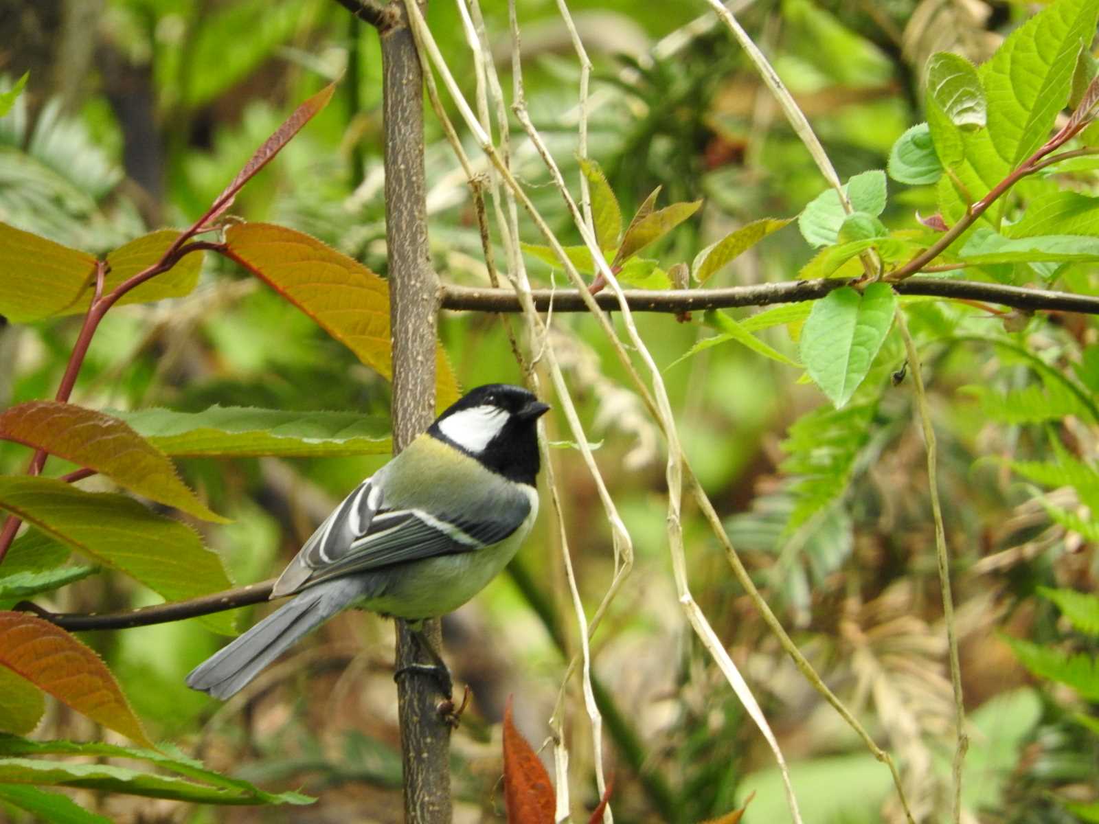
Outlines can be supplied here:
<path id="1" fill-rule="evenodd" d="M 355 353 L 392 377 L 389 285 L 357 260 L 292 229 L 243 223 L 225 232 L 230 256 Z M 435 357 L 440 407 L 458 398 L 458 385 L 440 346 Z"/>

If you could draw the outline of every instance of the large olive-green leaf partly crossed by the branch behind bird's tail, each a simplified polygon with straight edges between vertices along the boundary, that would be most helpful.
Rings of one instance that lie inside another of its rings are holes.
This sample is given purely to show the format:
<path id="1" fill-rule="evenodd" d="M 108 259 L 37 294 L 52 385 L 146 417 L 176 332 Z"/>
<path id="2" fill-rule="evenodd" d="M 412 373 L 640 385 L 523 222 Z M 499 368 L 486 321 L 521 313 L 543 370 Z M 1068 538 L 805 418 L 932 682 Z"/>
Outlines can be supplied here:
<path id="1" fill-rule="evenodd" d="M 221 558 L 202 546 L 193 530 L 126 495 L 85 492 L 53 478 L 0 476 L 0 509 L 125 572 L 168 601 L 232 586 Z M 217 632 L 233 632 L 232 617 L 225 613 L 201 621 Z"/>

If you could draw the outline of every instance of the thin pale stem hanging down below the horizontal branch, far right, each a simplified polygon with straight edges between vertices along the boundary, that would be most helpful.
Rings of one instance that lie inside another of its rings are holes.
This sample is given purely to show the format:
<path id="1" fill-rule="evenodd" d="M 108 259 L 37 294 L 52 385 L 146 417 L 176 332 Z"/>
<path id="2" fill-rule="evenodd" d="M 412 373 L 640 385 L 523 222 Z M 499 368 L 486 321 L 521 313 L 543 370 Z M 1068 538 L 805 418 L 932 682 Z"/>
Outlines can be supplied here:
<path id="1" fill-rule="evenodd" d="M 931 513 L 935 521 L 935 558 L 939 561 L 939 586 L 943 598 L 943 623 L 946 625 L 946 643 L 950 647 L 951 683 L 954 687 L 954 724 L 957 735 L 957 746 L 954 749 L 954 824 L 962 821 L 962 767 L 966 750 L 969 748 L 969 736 L 965 732 L 965 702 L 962 694 L 962 665 L 958 658 L 957 625 L 954 620 L 954 597 L 951 592 L 951 563 L 946 548 L 946 530 L 943 526 L 943 509 L 939 502 L 939 470 L 935 449 L 935 428 L 931 422 L 931 410 L 928 407 L 928 396 L 923 387 L 923 374 L 920 366 L 920 353 L 912 341 L 904 321 L 904 312 L 897 312 L 897 327 L 904 338 L 904 350 L 908 353 L 908 364 L 912 372 L 912 391 L 915 393 L 917 411 L 923 430 L 923 444 L 928 450 L 928 489 L 931 493 Z"/>

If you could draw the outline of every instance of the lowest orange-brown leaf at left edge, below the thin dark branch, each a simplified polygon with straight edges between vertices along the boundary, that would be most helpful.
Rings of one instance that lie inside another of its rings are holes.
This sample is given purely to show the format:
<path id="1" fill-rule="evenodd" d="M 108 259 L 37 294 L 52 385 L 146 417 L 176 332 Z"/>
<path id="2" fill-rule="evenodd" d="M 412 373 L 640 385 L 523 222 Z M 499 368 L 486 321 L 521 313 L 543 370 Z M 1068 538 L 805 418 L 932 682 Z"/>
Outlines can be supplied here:
<path id="1" fill-rule="evenodd" d="M 153 746 L 107 665 L 59 626 L 25 612 L 0 611 L 0 666 L 92 721 Z"/>

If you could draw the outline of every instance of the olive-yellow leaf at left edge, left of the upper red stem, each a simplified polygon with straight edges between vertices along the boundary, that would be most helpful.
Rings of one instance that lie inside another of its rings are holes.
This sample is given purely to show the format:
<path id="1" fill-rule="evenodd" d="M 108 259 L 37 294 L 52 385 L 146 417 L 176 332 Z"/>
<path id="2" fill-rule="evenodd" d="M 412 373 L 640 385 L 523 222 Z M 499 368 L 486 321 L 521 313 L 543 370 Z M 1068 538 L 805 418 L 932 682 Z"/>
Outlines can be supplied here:
<path id="1" fill-rule="evenodd" d="M 96 274 L 96 258 L 0 223 L 0 314 L 37 321 L 71 307 Z"/>

